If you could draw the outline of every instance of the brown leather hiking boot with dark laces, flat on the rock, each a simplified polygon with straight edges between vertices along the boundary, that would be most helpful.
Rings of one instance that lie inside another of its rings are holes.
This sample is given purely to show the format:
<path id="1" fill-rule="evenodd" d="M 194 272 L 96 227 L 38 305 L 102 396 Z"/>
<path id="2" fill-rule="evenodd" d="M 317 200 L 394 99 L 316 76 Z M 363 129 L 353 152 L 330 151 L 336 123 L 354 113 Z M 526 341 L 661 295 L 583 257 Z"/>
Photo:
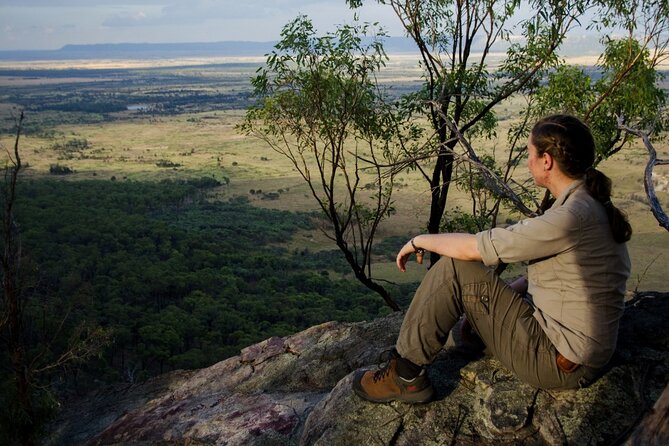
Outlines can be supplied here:
<path id="1" fill-rule="evenodd" d="M 427 403 L 434 396 L 434 389 L 425 369 L 413 379 L 405 379 L 397 373 L 398 361 L 404 359 L 394 350 L 386 364 L 378 370 L 359 371 L 353 378 L 353 391 L 367 401 L 386 403 Z M 406 361 L 406 360 L 404 360 Z"/>

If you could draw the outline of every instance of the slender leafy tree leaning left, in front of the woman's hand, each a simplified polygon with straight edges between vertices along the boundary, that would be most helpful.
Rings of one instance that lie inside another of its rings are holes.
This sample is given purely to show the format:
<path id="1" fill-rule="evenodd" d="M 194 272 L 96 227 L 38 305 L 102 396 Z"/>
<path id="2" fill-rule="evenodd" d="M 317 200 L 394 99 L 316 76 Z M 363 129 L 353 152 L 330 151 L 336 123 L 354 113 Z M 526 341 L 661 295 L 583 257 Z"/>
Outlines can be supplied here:
<path id="1" fill-rule="evenodd" d="M 296 18 L 252 79 L 257 104 L 242 130 L 290 160 L 355 277 L 397 310 L 372 277 L 372 245 L 393 213 L 393 174 L 380 166 L 394 163 L 411 128 L 376 79 L 387 59 L 382 36 L 355 23 L 319 37 L 307 17 Z"/>

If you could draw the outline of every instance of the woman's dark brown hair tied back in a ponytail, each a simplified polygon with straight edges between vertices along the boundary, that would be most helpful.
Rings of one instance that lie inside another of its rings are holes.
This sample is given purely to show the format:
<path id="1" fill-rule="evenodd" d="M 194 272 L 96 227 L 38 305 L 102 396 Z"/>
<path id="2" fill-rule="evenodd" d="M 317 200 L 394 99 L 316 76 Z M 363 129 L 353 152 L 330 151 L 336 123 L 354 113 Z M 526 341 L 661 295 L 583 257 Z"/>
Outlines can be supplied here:
<path id="1" fill-rule="evenodd" d="M 585 177 L 588 193 L 602 203 L 609 217 L 613 239 L 626 242 L 632 227 L 625 214 L 611 203 L 611 179 L 595 169 L 595 141 L 587 125 L 570 115 L 552 115 L 532 128 L 532 143 L 539 155 L 549 153 L 570 178 Z"/>

